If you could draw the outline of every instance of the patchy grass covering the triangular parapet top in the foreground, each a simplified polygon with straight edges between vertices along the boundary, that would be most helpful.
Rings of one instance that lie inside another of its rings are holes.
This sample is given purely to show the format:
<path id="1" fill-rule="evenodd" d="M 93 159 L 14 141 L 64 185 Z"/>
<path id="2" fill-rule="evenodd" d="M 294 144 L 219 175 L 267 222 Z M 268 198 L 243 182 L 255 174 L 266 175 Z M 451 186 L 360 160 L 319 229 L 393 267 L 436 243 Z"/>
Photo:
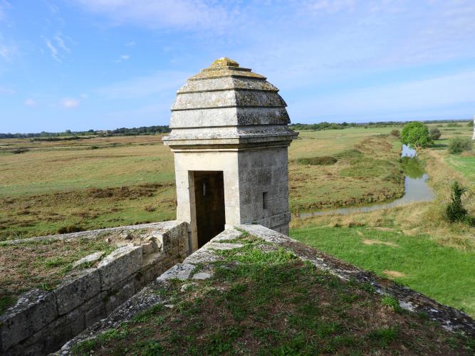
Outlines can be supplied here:
<path id="1" fill-rule="evenodd" d="M 73 353 L 463 355 L 475 347 L 370 286 L 345 283 L 283 248 L 262 252 L 258 246 L 265 243 L 255 236 L 239 242 L 242 248 L 221 251 L 225 261 L 214 263 L 209 280 L 157 288 L 168 308 L 155 305 L 78 343 Z"/>

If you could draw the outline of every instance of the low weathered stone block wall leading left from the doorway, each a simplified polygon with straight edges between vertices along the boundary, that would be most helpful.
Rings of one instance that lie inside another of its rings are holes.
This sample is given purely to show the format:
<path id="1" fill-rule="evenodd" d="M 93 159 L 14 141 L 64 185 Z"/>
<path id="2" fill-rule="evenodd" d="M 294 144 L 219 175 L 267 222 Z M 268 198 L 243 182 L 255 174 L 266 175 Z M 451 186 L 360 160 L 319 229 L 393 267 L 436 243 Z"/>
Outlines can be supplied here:
<path id="1" fill-rule="evenodd" d="M 0 316 L 0 355 L 46 355 L 58 350 L 187 256 L 186 223 L 166 221 L 136 230 L 144 228 L 148 229 L 142 244 L 119 247 L 96 268 L 68 275 L 55 290 L 35 289 L 21 295 Z M 91 236 L 95 233 L 101 231 L 89 231 Z"/>

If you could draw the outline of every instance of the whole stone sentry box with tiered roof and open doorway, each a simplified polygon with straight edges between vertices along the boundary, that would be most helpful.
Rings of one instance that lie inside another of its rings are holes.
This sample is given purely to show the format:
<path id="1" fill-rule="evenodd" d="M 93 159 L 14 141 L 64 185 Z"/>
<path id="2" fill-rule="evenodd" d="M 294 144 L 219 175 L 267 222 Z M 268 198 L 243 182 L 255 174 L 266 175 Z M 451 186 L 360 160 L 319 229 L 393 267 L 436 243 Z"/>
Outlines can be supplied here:
<path id="1" fill-rule="evenodd" d="M 288 234 L 288 128 L 278 88 L 219 58 L 177 91 L 163 138 L 174 153 L 177 219 L 194 251 L 226 227 L 261 224 Z M 224 197 L 224 199 L 221 199 Z"/>

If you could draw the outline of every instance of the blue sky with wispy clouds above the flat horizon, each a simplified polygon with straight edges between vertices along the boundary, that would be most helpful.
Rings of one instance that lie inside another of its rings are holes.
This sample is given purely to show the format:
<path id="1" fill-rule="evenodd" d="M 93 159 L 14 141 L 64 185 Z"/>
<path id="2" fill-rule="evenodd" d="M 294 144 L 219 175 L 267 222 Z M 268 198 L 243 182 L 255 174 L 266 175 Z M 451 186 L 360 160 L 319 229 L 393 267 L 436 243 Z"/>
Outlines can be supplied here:
<path id="1" fill-rule="evenodd" d="M 228 56 L 292 122 L 469 119 L 473 0 L 0 0 L 0 132 L 167 125 Z"/>

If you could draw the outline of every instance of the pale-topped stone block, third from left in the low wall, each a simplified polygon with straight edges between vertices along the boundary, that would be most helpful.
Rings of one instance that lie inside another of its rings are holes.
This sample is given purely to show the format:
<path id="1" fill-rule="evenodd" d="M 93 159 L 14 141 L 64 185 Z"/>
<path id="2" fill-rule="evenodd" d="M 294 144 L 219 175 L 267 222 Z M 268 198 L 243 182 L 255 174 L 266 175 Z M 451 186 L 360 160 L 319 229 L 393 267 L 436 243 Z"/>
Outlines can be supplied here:
<path id="1" fill-rule="evenodd" d="M 142 246 L 122 246 L 113 251 L 98 266 L 101 290 L 113 287 L 137 272 L 140 266 L 142 266 Z"/>

